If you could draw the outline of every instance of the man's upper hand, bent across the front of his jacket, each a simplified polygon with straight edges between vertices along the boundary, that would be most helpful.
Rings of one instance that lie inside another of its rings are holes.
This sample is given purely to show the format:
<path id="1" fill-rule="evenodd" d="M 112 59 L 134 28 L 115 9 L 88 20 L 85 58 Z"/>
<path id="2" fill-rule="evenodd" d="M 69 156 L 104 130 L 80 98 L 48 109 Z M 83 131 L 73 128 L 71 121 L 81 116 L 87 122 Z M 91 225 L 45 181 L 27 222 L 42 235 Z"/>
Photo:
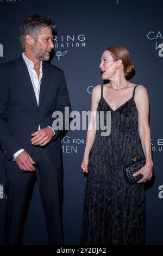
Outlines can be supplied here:
<path id="1" fill-rule="evenodd" d="M 32 144 L 39 145 L 41 147 L 45 146 L 53 138 L 54 132 L 50 127 L 45 127 L 39 131 L 32 133 Z"/>

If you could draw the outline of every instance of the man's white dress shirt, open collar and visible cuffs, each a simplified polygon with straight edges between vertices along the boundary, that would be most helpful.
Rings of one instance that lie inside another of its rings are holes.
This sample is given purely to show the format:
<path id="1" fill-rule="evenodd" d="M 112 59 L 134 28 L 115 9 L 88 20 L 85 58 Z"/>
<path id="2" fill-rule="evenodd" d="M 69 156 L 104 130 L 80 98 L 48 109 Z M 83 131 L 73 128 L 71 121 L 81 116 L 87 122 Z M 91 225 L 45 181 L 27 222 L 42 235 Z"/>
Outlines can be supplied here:
<path id="1" fill-rule="evenodd" d="M 37 76 L 37 73 L 36 73 L 36 70 L 34 69 L 34 64 L 33 62 L 28 59 L 26 57 L 26 55 L 24 54 L 24 52 L 22 53 L 22 57 L 24 59 L 24 62 L 26 63 L 27 65 L 27 68 L 28 68 L 28 72 L 29 72 L 29 76 L 30 76 L 30 80 L 32 82 L 32 85 L 33 85 L 33 89 L 34 89 L 34 93 L 35 93 L 35 96 L 36 96 L 36 101 L 37 101 L 37 105 L 39 106 L 39 95 L 40 95 L 40 85 L 41 85 L 41 78 L 42 78 L 42 62 L 40 62 L 40 75 L 39 77 Z M 48 126 L 50 127 L 52 130 L 53 128 L 51 126 Z M 38 130 L 40 130 L 40 125 L 39 125 L 39 128 Z M 53 130 L 54 132 L 54 130 Z M 55 132 L 54 132 L 54 135 L 55 135 Z M 13 159 L 15 161 L 16 157 L 22 153 L 24 151 L 24 149 L 20 149 L 18 150 L 14 155 L 13 155 Z"/>

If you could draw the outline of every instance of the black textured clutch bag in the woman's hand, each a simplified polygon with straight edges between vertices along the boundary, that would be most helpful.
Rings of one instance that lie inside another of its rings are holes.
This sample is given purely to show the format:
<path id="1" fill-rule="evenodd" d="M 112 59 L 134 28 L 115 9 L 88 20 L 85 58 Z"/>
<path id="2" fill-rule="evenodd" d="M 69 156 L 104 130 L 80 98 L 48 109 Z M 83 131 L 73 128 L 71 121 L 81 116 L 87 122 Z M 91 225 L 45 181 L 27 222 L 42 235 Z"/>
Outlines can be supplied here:
<path id="1" fill-rule="evenodd" d="M 128 183 L 135 184 L 137 181 L 143 178 L 142 174 L 139 174 L 135 177 L 133 176 L 133 174 L 138 172 L 138 170 L 145 166 L 145 164 L 146 160 L 144 158 L 137 159 L 137 157 L 133 157 L 133 159 L 131 159 L 131 162 L 123 167 L 124 178 L 127 180 Z"/>

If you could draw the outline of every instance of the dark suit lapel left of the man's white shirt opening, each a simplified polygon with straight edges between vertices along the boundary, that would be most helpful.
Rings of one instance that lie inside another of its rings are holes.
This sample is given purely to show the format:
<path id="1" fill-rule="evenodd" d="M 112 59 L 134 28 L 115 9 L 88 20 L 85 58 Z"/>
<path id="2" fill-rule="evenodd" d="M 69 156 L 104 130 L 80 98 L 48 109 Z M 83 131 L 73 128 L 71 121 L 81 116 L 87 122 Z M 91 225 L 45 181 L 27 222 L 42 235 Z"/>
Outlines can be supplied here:
<path id="1" fill-rule="evenodd" d="M 27 94 L 30 95 L 31 99 L 33 100 L 34 104 L 38 107 L 35 92 L 33 89 L 32 81 L 30 80 L 29 72 L 26 63 L 24 62 L 22 56 L 20 56 L 15 63 L 16 71 L 18 75 L 18 79 L 22 84 L 24 90 L 26 90 Z"/>

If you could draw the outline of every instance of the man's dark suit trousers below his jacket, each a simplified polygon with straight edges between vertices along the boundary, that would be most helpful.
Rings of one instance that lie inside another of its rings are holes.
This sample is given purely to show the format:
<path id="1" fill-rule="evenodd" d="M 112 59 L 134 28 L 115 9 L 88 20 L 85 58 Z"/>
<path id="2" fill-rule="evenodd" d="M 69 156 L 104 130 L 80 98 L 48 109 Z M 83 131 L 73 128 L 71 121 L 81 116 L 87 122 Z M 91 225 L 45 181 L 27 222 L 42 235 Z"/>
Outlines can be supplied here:
<path id="1" fill-rule="evenodd" d="M 55 168 L 52 165 L 46 148 L 35 148 L 32 157 L 36 167 L 34 172 L 16 173 L 5 169 L 7 204 L 4 243 L 22 244 L 29 202 L 37 180 L 45 210 L 49 245 L 62 245 L 62 166 Z"/>

